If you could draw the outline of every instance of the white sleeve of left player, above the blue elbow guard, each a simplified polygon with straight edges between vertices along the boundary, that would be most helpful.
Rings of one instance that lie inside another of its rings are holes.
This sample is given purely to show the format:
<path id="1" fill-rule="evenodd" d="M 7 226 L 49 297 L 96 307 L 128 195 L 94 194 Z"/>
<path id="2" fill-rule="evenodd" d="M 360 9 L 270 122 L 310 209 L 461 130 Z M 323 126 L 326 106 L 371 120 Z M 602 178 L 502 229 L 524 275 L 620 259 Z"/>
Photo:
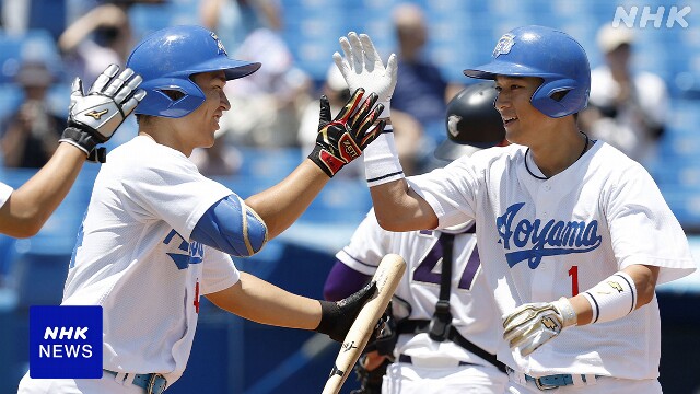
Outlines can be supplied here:
<path id="1" fill-rule="evenodd" d="M 158 163 L 124 176 L 124 187 L 138 206 L 164 220 L 185 240 L 202 215 L 220 199 L 234 194 L 211 181 L 186 159 L 160 157 Z"/>

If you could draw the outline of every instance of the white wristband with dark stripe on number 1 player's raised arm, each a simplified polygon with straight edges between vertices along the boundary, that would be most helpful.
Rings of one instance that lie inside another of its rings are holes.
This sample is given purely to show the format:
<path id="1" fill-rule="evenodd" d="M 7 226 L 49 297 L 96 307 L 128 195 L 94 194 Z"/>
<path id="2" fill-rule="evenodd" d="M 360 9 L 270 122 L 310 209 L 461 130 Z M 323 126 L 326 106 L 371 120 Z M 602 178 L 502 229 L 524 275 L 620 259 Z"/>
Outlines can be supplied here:
<path id="1" fill-rule="evenodd" d="M 370 187 L 405 177 L 404 169 L 398 161 L 392 126 L 387 126 L 384 132 L 364 149 L 363 157 L 364 175 Z"/>

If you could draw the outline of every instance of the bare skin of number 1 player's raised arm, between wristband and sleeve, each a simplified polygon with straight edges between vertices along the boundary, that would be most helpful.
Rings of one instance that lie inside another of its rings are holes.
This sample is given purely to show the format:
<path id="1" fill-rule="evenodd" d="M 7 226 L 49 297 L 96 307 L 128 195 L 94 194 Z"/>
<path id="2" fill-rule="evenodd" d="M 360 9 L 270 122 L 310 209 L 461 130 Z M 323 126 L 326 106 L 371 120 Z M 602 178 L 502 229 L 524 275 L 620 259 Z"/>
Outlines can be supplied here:
<path id="1" fill-rule="evenodd" d="M 388 231 L 427 230 L 438 227 L 432 207 L 408 187 L 405 178 L 370 187 L 380 225 Z"/>

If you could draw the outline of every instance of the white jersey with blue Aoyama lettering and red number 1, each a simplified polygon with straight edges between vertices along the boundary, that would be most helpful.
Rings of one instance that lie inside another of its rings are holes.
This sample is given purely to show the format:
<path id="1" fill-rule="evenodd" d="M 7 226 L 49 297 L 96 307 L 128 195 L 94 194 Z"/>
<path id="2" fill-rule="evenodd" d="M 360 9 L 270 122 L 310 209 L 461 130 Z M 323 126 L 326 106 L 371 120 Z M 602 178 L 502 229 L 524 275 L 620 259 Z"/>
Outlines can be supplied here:
<path id="1" fill-rule="evenodd" d="M 522 146 L 483 150 L 408 179 L 433 208 L 439 228 L 476 219 L 483 271 L 501 315 L 524 303 L 572 297 L 633 264 L 658 266 L 658 283 L 696 269 L 680 224 L 640 164 L 596 141 L 546 178 L 526 152 Z M 656 382 L 658 304 L 654 298 L 623 318 L 568 328 L 524 358 L 505 341 L 499 345 L 501 361 L 536 378 Z"/>

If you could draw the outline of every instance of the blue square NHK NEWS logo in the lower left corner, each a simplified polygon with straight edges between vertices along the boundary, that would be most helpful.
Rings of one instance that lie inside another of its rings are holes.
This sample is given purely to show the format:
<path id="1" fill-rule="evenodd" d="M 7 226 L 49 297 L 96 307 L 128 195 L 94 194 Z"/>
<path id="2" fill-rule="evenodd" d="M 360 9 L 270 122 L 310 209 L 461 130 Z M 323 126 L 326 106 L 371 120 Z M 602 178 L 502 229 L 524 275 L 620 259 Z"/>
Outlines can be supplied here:
<path id="1" fill-rule="evenodd" d="M 30 376 L 102 378 L 102 306 L 30 308 Z"/>

